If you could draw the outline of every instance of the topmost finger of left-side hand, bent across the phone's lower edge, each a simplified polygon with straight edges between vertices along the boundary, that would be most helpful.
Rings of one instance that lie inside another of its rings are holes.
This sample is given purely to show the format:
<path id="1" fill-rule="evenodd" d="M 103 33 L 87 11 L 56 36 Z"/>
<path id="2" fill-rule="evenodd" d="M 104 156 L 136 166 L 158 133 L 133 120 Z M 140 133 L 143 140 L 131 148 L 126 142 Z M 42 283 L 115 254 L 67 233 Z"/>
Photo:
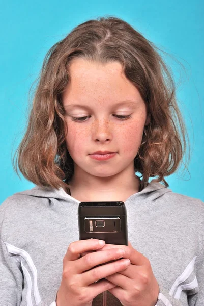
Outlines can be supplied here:
<path id="1" fill-rule="evenodd" d="M 80 258 L 80 254 L 85 251 L 93 251 L 101 248 L 105 241 L 98 239 L 78 240 L 70 243 L 65 255 L 67 260 L 76 260 Z"/>

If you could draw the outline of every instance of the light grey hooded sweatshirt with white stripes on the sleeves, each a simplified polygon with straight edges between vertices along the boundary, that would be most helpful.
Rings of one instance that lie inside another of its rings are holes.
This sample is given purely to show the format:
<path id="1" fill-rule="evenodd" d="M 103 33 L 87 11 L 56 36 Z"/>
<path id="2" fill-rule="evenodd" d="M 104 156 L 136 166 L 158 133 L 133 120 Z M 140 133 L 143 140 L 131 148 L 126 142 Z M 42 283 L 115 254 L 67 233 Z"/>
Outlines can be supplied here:
<path id="1" fill-rule="evenodd" d="M 2 203 L 1 306 L 56 306 L 63 258 L 79 240 L 78 204 L 63 189 L 39 186 Z M 150 260 L 159 284 L 157 306 L 203 306 L 204 203 L 152 181 L 125 205 L 128 239 Z M 107 293 L 107 305 L 121 305 Z M 102 294 L 92 305 L 102 305 Z"/>

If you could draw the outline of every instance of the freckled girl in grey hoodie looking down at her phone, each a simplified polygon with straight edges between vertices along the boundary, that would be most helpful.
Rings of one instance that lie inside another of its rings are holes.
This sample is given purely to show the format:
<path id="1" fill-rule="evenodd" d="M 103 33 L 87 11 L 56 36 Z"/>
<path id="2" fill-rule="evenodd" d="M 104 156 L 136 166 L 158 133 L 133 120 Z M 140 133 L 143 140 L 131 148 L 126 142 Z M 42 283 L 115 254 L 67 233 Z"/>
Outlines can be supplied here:
<path id="1" fill-rule="evenodd" d="M 164 178 L 185 147 L 171 74 L 131 25 L 101 17 L 56 43 L 15 164 L 36 186 L 0 207 L 1 305 L 203 305 L 203 202 Z M 81 201 L 124 201 L 129 245 L 79 241 Z"/>

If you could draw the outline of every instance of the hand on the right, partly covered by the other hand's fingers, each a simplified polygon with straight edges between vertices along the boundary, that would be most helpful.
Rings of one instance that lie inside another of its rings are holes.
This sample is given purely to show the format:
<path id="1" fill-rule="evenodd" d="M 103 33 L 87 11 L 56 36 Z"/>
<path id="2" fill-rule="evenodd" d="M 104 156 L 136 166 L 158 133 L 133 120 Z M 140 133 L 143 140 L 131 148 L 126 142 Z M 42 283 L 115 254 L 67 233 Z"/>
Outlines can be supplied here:
<path id="1" fill-rule="evenodd" d="M 135 250 L 130 242 L 128 246 L 106 244 L 97 252 L 115 247 L 125 249 L 123 258 L 129 258 L 131 265 L 125 271 L 105 277 L 116 285 L 108 291 L 118 298 L 123 306 L 155 306 L 159 295 L 159 285 L 150 261 Z"/>

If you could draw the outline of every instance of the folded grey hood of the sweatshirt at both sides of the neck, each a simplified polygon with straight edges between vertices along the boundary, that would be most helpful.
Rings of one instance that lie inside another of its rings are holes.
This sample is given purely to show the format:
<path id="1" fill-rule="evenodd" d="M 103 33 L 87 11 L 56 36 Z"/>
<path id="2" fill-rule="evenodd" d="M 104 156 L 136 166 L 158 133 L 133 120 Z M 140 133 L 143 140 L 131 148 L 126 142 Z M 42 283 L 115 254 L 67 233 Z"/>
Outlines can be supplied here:
<path id="1" fill-rule="evenodd" d="M 166 188 L 164 185 L 156 182 L 155 180 L 152 180 L 147 187 L 145 187 L 142 191 L 131 195 L 128 198 L 128 200 L 134 197 L 134 198 L 140 198 L 140 200 L 148 198 L 148 200 L 154 201 L 167 192 L 171 192 L 171 189 Z M 35 186 L 32 189 L 17 192 L 15 194 L 21 194 L 21 195 L 25 194 L 34 197 L 54 198 L 65 201 L 71 200 L 80 203 L 80 201 L 67 194 L 62 187 L 60 189 L 54 189 L 51 187 L 42 188 L 40 186 Z"/>

